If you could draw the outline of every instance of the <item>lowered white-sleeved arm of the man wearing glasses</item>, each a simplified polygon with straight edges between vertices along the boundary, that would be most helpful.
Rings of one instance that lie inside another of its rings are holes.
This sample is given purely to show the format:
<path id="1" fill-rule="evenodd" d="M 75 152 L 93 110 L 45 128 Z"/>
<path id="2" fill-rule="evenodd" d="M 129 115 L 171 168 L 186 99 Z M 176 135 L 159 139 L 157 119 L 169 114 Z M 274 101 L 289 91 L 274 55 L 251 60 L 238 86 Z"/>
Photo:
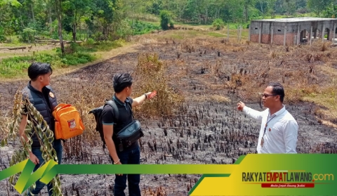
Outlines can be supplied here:
<path id="1" fill-rule="evenodd" d="M 284 126 L 284 145 L 286 146 L 286 153 L 296 154 L 296 143 L 298 134 L 298 124 L 296 121 L 291 120 Z"/>

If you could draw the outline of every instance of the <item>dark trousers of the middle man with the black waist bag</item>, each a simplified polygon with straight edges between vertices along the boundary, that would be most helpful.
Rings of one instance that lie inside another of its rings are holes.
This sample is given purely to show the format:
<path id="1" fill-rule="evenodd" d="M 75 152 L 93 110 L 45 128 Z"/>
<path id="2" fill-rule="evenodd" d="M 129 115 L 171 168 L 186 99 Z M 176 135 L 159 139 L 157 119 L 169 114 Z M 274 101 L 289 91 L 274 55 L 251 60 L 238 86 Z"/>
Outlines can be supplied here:
<path id="1" fill-rule="evenodd" d="M 121 164 L 140 164 L 140 148 L 137 145 L 136 148 L 131 150 L 124 150 L 117 155 L 121 159 Z M 128 178 L 128 195 L 140 196 L 140 174 L 123 174 L 123 176 L 117 176 L 114 179 L 114 196 L 124 196 L 124 190 L 126 188 L 126 177 Z"/>

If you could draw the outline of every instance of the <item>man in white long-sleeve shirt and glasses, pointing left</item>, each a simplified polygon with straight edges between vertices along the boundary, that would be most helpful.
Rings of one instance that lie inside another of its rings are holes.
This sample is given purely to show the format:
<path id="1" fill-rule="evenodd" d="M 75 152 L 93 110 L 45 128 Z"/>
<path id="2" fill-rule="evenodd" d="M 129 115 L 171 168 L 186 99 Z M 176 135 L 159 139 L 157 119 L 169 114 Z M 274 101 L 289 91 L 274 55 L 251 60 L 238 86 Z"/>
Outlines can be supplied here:
<path id="1" fill-rule="evenodd" d="M 237 109 L 261 122 L 258 153 L 297 153 L 298 124 L 283 105 L 284 89 L 279 83 L 270 83 L 262 95 L 263 112 L 247 107 L 241 101 Z"/>

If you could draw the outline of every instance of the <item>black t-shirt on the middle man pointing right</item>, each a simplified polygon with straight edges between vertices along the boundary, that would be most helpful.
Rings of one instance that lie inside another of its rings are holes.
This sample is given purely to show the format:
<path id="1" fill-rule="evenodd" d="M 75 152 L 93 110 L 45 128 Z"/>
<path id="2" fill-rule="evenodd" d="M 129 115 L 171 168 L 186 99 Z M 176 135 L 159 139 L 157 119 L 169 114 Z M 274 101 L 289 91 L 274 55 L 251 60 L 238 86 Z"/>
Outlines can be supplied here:
<path id="1" fill-rule="evenodd" d="M 126 125 L 130 124 L 133 121 L 130 107 L 130 105 L 132 105 L 133 103 L 133 99 L 128 97 L 125 100 L 125 103 L 123 103 L 116 96 L 114 96 L 113 100 L 114 103 L 116 103 L 119 111 L 119 119 L 117 119 L 117 122 L 115 122 L 116 120 L 114 117 L 114 109 L 112 108 L 111 105 L 105 105 L 102 111 L 102 121 L 103 121 L 102 123 L 105 125 L 114 125 L 114 133 L 118 133 L 119 131 L 121 131 L 121 129 L 123 129 Z M 128 102 L 130 103 L 130 105 L 128 104 Z M 117 145 L 118 141 L 114 140 L 114 143 L 115 145 Z M 138 144 L 137 142 L 133 143 L 129 148 L 134 148 L 137 144 Z"/>

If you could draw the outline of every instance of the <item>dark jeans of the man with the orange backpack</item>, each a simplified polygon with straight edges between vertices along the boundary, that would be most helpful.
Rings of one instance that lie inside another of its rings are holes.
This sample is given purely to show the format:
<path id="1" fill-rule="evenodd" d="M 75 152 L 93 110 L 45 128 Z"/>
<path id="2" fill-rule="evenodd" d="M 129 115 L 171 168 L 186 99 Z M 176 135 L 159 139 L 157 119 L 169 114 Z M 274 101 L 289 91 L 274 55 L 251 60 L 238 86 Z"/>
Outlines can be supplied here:
<path id="1" fill-rule="evenodd" d="M 61 159 L 62 159 L 62 143 L 61 143 L 61 140 L 54 140 L 54 143 L 53 143 L 53 148 L 55 149 L 56 151 L 56 155 L 58 157 L 58 164 L 61 164 Z M 39 159 L 39 164 L 37 164 L 35 167 L 34 167 L 34 171 L 36 171 L 37 169 L 39 169 L 40 166 L 42 166 L 44 164 L 44 158 L 42 158 L 42 152 L 40 150 L 40 148 L 32 148 L 32 153 L 37 156 L 37 158 Z M 28 191 L 28 195 L 38 195 L 39 192 L 42 190 L 42 188 L 44 188 L 46 184 L 44 183 L 41 183 L 40 181 L 37 181 L 36 182 L 36 188 L 34 188 L 33 190 L 31 190 L 31 192 L 29 192 L 29 189 L 27 190 Z M 52 195 L 53 193 L 53 184 L 52 183 L 48 183 L 47 184 L 47 189 L 48 189 L 48 195 Z"/>

